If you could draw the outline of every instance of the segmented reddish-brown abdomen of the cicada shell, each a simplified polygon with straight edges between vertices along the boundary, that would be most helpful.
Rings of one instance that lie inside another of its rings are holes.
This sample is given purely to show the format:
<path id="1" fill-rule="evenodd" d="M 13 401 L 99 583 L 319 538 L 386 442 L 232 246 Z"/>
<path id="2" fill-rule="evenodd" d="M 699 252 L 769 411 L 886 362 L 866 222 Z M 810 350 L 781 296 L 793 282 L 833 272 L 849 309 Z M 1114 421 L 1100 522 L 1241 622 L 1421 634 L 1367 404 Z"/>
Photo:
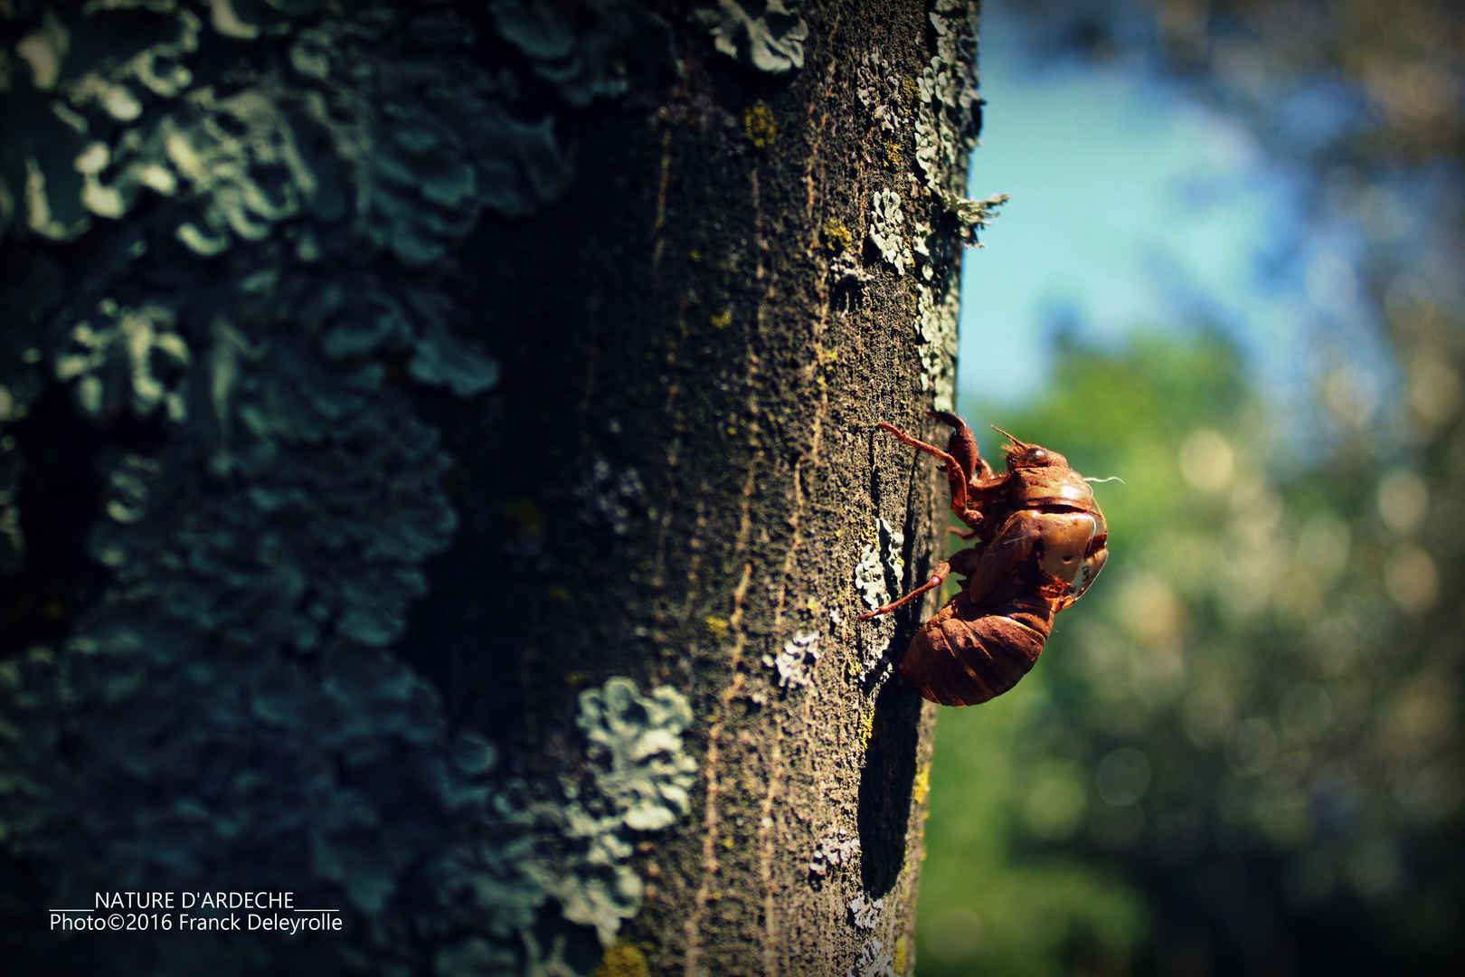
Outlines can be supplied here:
<path id="1" fill-rule="evenodd" d="M 1017 684 L 1053 631 L 1046 598 L 977 606 L 958 593 L 926 621 L 900 662 L 913 688 L 943 706 L 971 706 Z"/>

